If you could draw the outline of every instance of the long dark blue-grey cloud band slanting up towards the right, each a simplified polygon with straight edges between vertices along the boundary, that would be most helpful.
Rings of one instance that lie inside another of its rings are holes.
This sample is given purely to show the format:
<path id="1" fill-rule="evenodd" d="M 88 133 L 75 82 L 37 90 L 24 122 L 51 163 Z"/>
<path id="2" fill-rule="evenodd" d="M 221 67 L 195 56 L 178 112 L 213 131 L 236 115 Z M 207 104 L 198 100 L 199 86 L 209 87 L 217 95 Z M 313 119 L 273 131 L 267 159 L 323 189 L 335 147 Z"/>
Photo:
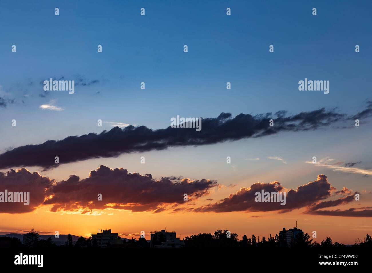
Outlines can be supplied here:
<path id="1" fill-rule="evenodd" d="M 47 106 L 48 107 L 48 106 Z M 275 126 L 269 120 L 275 118 Z M 54 157 L 60 163 L 77 162 L 98 157 L 117 157 L 122 153 L 164 150 L 177 146 L 200 146 L 250 137 L 263 137 L 282 131 L 307 131 L 329 126 L 344 118 L 343 114 L 324 108 L 286 116 L 285 111 L 252 116 L 221 113 L 216 118 L 203 118 L 202 130 L 171 128 L 153 130 L 146 126 L 114 127 L 100 134 L 69 136 L 63 140 L 48 140 L 42 144 L 16 147 L 0 155 L 0 169 L 41 166 L 55 168 Z"/>

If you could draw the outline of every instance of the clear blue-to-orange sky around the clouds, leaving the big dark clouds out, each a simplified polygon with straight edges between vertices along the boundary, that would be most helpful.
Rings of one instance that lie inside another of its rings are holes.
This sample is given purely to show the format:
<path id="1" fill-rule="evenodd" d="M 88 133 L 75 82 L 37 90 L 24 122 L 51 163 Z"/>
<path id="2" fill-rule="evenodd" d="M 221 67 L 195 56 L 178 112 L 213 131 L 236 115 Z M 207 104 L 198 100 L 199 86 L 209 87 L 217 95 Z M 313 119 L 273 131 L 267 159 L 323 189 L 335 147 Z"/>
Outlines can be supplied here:
<path id="1" fill-rule="evenodd" d="M 142 7 L 145 16 L 140 15 Z M 227 8 L 231 16 L 226 15 Z M 0 98 L 9 102 L 6 108 L 0 107 L 0 161 L 6 150 L 101 133 L 112 128 L 109 122 L 164 129 L 177 115 L 206 118 L 227 112 L 235 117 L 279 110 L 294 115 L 322 107 L 356 114 L 372 100 L 371 10 L 371 1 L 0 0 Z M 12 45 L 17 47 L 15 53 Z M 98 45 L 103 52 L 97 52 Z M 269 52 L 270 45 L 274 52 Z M 355 45 L 360 52 L 355 52 Z M 40 96 L 44 94 L 41 81 L 60 77 L 81 78 L 90 85 L 76 86 L 74 94 L 51 91 Z M 305 78 L 330 81 L 329 94 L 299 91 L 298 81 Z M 141 82 L 145 90 L 140 89 Z M 231 90 L 226 89 L 227 82 Z M 40 108 L 51 101 L 63 110 Z M 13 119 L 16 127 L 11 126 Z M 98 119 L 102 127 L 97 126 Z M 360 127 L 353 124 L 341 121 L 314 131 L 283 131 L 235 142 L 89 159 L 49 170 L 26 167 L 56 181 L 72 174 L 86 178 L 100 165 L 149 173 L 153 178 L 214 179 L 222 187 L 203 196 L 214 202 L 256 182 L 279 181 L 285 189 L 296 189 L 324 173 L 338 190 L 347 187 L 362 192 L 362 202 L 343 209 L 371 206 L 371 117 L 362 118 Z M 141 156 L 145 164 L 140 163 Z M 231 164 L 226 163 L 227 156 Z M 306 163 L 313 156 L 320 164 Z M 356 163 L 355 169 L 344 167 L 347 163 Z M 197 205 L 207 204 L 205 198 Z M 61 234 L 89 235 L 106 222 L 116 232 L 134 234 L 138 225 L 147 232 L 171 223 L 177 233 L 189 235 L 212 232 L 229 223 L 228 228 L 240 236 L 248 228 L 267 236 L 299 220 L 309 234 L 319 230 L 319 238 L 329 234 L 334 238 L 338 225 L 335 239 L 344 241 L 347 234 L 346 242 L 353 243 L 371 230 L 369 217 L 300 212 L 258 211 L 252 213 L 262 218 L 250 218 L 245 211 L 114 211 L 120 217 L 104 213 L 87 218 L 40 209 L 6 215 L 3 222 L 9 224 L 0 225 L 0 231 L 56 230 L 58 225 Z"/>

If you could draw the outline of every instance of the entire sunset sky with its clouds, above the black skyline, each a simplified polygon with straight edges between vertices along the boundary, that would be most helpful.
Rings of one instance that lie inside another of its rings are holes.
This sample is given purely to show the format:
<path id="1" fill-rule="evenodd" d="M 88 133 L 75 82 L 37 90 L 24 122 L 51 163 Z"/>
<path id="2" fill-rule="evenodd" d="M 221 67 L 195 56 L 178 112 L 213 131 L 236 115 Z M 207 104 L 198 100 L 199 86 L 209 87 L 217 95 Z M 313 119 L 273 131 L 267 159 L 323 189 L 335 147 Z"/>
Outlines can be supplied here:
<path id="1" fill-rule="evenodd" d="M 365 237 L 371 8 L 368 1 L 0 1 L 0 190 L 30 188 L 36 196 L 29 211 L 0 203 L 0 232 L 112 229 L 131 237 L 167 228 L 184 237 L 227 229 L 267 238 L 297 221 L 317 231 L 318 242 Z M 74 94 L 45 92 L 49 78 L 75 80 Z M 329 94 L 299 91 L 305 78 L 329 81 Z M 200 134 L 170 128 L 177 115 L 202 117 Z M 63 155 L 57 167 L 49 153 Z M 229 203 L 237 196 L 247 204 L 252 185 L 274 181 L 295 191 L 290 211 Z M 323 186 L 298 194 L 309 182 Z M 100 191 L 103 200 L 93 202 Z M 343 199 L 355 192 L 359 201 Z M 312 207 L 330 200 L 339 204 Z"/>

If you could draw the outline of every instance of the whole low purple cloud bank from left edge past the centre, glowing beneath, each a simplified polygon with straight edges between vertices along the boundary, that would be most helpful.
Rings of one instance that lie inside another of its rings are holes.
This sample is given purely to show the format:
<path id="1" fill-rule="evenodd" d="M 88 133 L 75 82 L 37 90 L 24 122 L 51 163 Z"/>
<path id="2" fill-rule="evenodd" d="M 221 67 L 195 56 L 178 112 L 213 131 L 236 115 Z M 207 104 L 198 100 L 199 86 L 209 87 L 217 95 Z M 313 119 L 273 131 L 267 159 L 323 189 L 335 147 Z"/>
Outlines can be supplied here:
<path id="1" fill-rule="evenodd" d="M 162 177 L 155 180 L 150 174 L 128 173 L 123 168 L 110 169 L 103 165 L 92 170 L 88 178 L 70 175 L 66 181 L 56 182 L 23 168 L 6 174 L 0 172 L 0 189 L 29 191 L 30 205 L 1 203 L 0 212 L 30 212 L 38 206 L 51 205 L 52 212 L 97 214 L 97 210 L 124 209 L 157 213 L 170 205 L 185 204 L 185 193 L 189 202 L 208 195 L 217 185 L 209 179 Z M 102 194 L 102 201 L 98 201 L 98 194 Z"/>

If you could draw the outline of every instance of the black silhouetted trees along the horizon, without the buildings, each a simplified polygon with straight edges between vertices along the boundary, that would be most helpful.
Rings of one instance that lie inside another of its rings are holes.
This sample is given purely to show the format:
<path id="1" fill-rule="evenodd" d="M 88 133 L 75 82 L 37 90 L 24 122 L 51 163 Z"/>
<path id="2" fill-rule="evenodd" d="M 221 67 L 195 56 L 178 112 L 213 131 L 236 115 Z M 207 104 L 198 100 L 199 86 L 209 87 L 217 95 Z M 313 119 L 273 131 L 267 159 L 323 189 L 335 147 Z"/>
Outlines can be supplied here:
<path id="1" fill-rule="evenodd" d="M 364 239 L 357 238 L 355 244 L 345 246 L 338 242 L 333 242 L 330 237 L 325 238 L 320 244 L 313 242 L 314 239 L 310 239 L 311 236 L 303 231 L 296 235 L 293 242 L 288 245 L 286 240 L 281 239 L 278 234 L 274 237 L 270 234 L 268 238 L 256 237 L 252 234 L 250 238 L 247 235 L 243 236 L 243 240 L 238 240 L 238 234 L 229 233 L 227 230 L 217 230 L 214 234 L 211 233 L 199 233 L 184 238 L 186 248 L 218 248 L 218 247 L 233 247 L 233 248 L 323 248 L 323 247 L 355 247 L 355 248 L 372 248 L 372 238 L 370 235 L 366 235 Z M 68 241 L 62 246 L 57 246 L 52 241 L 52 237 L 46 240 L 40 239 L 39 234 L 31 230 L 27 233 L 27 240 L 21 243 L 18 238 L 13 237 L 0 237 L 1 247 L 11 248 L 99 248 L 96 240 L 92 241 L 92 237 L 85 238 L 80 236 L 74 243 L 71 234 L 68 234 Z M 129 239 L 123 241 L 120 245 L 111 245 L 110 248 L 117 247 L 150 247 L 150 243 L 145 238 Z"/>

